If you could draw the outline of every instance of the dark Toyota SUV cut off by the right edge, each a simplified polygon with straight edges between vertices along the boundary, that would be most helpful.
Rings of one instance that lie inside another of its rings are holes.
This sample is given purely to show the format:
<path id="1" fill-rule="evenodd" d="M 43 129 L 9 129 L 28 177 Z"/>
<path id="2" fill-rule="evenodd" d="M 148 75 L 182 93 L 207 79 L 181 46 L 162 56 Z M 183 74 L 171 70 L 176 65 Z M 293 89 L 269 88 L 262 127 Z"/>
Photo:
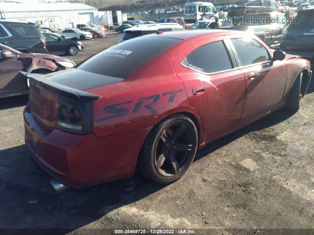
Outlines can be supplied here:
<path id="1" fill-rule="evenodd" d="M 289 24 L 284 29 L 280 50 L 286 53 L 303 56 L 314 61 L 314 8 L 298 11 L 295 17 L 297 24 Z"/>

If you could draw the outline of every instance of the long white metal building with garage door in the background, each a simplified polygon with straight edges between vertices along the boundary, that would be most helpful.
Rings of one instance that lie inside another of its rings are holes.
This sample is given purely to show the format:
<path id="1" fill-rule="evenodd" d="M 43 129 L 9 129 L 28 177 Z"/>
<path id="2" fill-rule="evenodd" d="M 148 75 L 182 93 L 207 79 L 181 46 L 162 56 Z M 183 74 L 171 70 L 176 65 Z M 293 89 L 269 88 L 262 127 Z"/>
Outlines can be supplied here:
<path id="1" fill-rule="evenodd" d="M 0 3 L 0 18 L 58 29 L 99 24 L 98 9 L 83 3 Z"/>

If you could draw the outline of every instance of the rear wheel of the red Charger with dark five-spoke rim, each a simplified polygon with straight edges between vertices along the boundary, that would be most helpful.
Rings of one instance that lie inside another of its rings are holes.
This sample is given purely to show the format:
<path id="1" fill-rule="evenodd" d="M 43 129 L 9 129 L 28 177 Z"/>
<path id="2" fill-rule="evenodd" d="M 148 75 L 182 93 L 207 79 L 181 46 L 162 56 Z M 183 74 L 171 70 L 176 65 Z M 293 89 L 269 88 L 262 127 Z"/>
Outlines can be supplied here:
<path id="1" fill-rule="evenodd" d="M 138 167 L 159 184 L 172 183 L 190 167 L 197 144 L 193 121 L 186 115 L 172 115 L 150 131 L 139 154 Z"/>

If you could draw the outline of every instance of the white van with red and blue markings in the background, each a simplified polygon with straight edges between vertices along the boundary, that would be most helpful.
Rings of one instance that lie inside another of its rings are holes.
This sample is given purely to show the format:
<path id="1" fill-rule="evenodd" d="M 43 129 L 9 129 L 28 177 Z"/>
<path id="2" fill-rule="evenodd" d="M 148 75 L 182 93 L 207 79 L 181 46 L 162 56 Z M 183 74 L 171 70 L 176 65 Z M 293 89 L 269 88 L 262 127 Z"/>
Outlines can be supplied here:
<path id="1" fill-rule="evenodd" d="M 218 17 L 218 12 L 213 3 L 193 2 L 186 3 L 184 6 L 184 20 L 186 23 L 195 23 L 202 19 Z"/>

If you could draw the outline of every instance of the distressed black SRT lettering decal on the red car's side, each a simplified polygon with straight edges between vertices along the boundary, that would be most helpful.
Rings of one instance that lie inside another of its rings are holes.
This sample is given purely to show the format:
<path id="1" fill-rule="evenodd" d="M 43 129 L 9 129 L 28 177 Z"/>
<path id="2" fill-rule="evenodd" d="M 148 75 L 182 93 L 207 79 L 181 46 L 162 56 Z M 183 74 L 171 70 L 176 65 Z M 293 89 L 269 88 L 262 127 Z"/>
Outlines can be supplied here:
<path id="1" fill-rule="evenodd" d="M 169 99 L 168 99 L 168 104 L 172 103 L 173 100 L 175 99 L 176 93 L 183 91 L 183 89 L 180 89 L 178 91 L 169 91 L 169 92 L 165 92 L 162 94 L 162 96 L 165 95 L 170 95 Z M 156 114 L 158 113 L 156 111 L 156 109 L 154 109 L 152 106 L 157 104 L 157 101 L 160 99 L 160 95 L 152 95 L 152 96 L 148 96 L 148 97 L 143 97 L 137 100 L 137 103 L 134 106 L 133 112 L 132 113 L 136 113 L 140 110 L 140 108 L 143 105 L 143 102 L 146 100 L 151 100 L 149 104 L 145 104 L 144 107 L 152 114 Z M 104 117 L 104 118 L 100 118 L 98 120 L 96 120 L 96 122 L 100 122 L 100 121 L 105 121 L 108 119 L 112 119 L 112 118 L 116 118 L 116 117 L 120 117 L 120 116 L 124 116 L 127 115 L 129 113 L 129 109 L 127 108 L 121 108 L 119 106 L 121 105 L 125 105 L 125 104 L 131 104 L 133 103 L 133 100 L 130 101 L 126 101 L 126 102 L 122 102 L 119 104 L 112 104 L 112 105 L 108 105 L 104 108 L 105 113 L 107 114 L 114 114 L 111 115 L 109 117 Z"/>

